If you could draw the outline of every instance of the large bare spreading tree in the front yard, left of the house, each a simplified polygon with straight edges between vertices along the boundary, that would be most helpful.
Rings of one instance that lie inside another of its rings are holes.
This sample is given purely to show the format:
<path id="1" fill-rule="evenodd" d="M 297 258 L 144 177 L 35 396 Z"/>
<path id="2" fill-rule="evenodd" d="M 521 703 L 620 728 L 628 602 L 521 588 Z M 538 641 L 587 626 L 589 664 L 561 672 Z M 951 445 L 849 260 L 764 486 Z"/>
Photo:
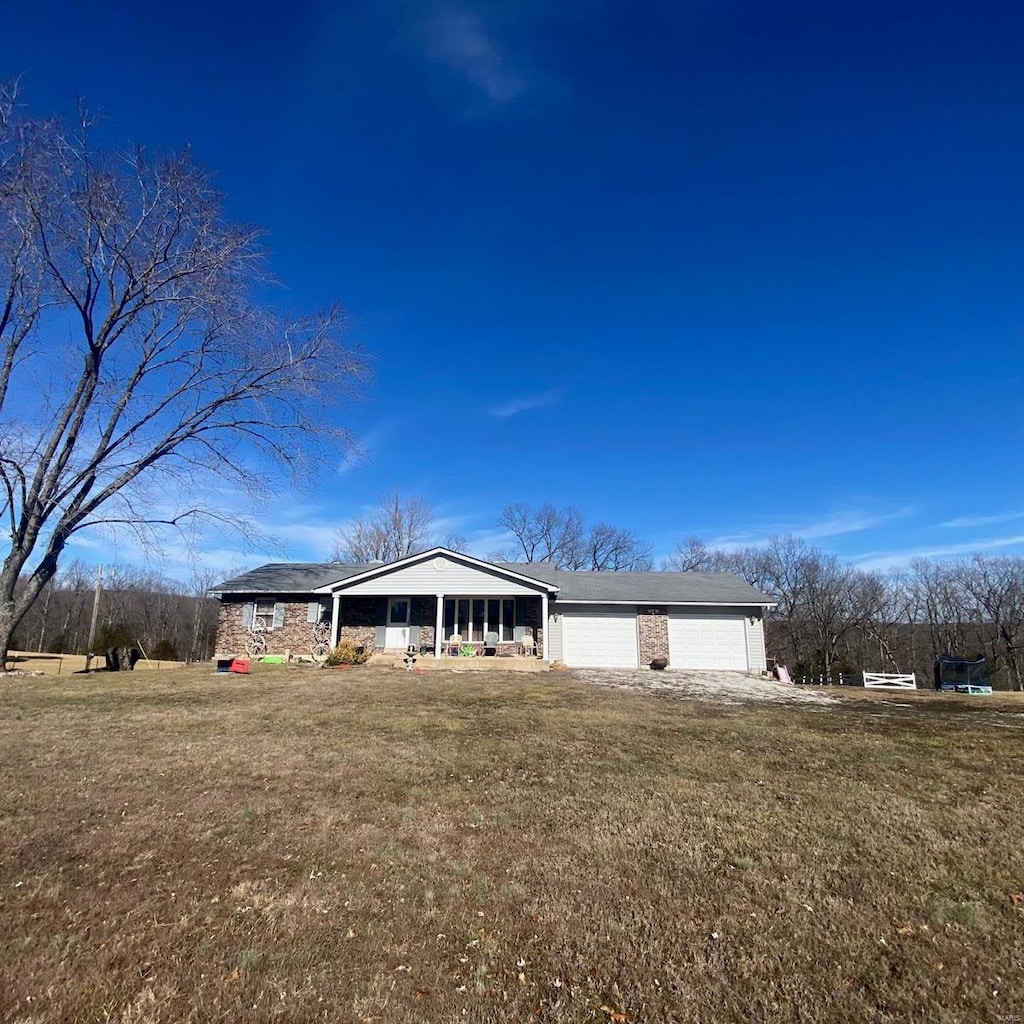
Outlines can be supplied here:
<path id="1" fill-rule="evenodd" d="M 177 496 L 258 495 L 327 437 L 364 360 L 337 310 L 255 304 L 258 239 L 188 153 L 98 151 L 0 93 L 0 654 L 77 531 L 217 515 Z"/>

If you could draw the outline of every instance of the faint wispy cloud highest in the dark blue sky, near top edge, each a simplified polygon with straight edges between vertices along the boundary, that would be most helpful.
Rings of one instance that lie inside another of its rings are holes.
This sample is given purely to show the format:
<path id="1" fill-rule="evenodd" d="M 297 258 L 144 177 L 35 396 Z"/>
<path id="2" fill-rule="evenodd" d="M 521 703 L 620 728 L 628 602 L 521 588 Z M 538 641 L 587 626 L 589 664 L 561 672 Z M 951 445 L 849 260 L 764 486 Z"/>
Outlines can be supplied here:
<path id="1" fill-rule="evenodd" d="M 440 4 L 423 29 L 429 56 L 462 76 L 492 102 L 511 102 L 526 89 L 525 76 L 510 66 L 474 11 Z"/>

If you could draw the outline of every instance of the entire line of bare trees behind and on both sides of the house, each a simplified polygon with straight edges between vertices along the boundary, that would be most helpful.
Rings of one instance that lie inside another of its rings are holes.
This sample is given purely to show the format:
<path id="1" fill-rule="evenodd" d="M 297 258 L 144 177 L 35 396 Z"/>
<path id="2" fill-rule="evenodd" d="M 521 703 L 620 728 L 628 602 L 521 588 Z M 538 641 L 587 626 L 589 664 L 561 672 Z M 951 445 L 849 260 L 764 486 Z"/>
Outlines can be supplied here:
<path id="1" fill-rule="evenodd" d="M 391 524 L 391 527 L 389 527 Z M 334 557 L 387 560 L 445 544 L 430 507 L 397 492 L 339 537 Z M 515 539 L 490 552 L 495 560 L 547 562 L 568 569 L 652 567 L 650 547 L 628 530 L 588 524 L 575 509 L 507 506 L 501 525 Z M 360 549 L 362 538 L 373 547 Z M 1024 689 L 1024 557 L 918 559 L 906 568 L 867 571 L 800 538 L 722 550 L 689 538 L 664 569 L 734 572 L 777 602 L 766 620 L 769 655 L 794 677 L 835 679 L 862 669 L 914 672 L 930 680 L 937 654 L 984 656 L 995 685 Z M 95 567 L 72 562 L 43 588 L 12 647 L 86 653 Z M 108 568 L 99 602 L 95 649 L 140 646 L 154 659 L 205 660 L 213 655 L 217 602 L 212 578 L 190 584 L 136 568 Z"/>

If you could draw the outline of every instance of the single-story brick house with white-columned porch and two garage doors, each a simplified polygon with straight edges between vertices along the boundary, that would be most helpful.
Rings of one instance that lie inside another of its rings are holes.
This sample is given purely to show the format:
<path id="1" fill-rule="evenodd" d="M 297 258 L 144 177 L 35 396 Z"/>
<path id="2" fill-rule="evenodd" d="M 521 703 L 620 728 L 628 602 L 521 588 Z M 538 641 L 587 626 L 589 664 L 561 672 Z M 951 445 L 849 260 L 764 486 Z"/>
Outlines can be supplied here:
<path id="1" fill-rule="evenodd" d="M 536 652 L 571 667 L 765 671 L 770 598 L 729 572 L 580 572 L 487 562 L 433 548 L 393 562 L 263 565 L 214 587 L 217 651 L 240 653 L 250 630 L 268 653 L 330 643 L 441 656 L 450 641 Z M 326 630 L 326 626 L 321 627 Z"/>

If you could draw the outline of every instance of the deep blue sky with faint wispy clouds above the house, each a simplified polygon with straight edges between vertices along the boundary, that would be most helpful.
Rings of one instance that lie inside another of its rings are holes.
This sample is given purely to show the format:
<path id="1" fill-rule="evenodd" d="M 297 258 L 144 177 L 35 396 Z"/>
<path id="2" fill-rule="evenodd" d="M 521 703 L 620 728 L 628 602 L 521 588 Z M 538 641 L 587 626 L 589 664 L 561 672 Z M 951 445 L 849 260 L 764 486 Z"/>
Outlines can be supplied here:
<path id="1" fill-rule="evenodd" d="M 0 76 L 190 144 L 274 301 L 347 308 L 366 458 L 264 517 L 290 557 L 395 485 L 481 555 L 512 501 L 1020 554 L 1024 7 L 839 6 L 5 4 Z"/>

